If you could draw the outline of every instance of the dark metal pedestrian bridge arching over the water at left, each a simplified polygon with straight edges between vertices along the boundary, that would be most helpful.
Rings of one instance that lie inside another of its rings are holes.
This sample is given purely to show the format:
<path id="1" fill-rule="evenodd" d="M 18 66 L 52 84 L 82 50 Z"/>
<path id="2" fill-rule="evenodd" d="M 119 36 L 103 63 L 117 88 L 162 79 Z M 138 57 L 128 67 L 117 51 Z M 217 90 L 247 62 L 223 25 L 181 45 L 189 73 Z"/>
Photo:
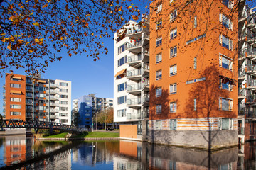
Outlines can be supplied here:
<path id="1" fill-rule="evenodd" d="M 45 122 L 38 120 L 12 120 L 12 119 L 3 119 L 0 120 L 0 128 L 4 130 L 6 128 L 33 128 L 36 133 L 39 129 L 49 129 L 50 132 L 53 130 L 63 130 L 66 132 L 75 132 L 81 133 L 82 128 L 78 128 L 74 125 L 65 125 L 63 123 L 54 123 L 54 122 Z"/>

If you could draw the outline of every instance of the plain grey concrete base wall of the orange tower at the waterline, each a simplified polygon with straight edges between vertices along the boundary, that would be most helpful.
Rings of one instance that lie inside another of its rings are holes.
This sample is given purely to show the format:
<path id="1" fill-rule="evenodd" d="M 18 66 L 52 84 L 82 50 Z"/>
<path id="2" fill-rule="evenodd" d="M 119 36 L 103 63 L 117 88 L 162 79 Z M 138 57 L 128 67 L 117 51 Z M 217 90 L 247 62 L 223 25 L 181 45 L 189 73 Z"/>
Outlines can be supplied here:
<path id="1" fill-rule="evenodd" d="M 211 143 L 209 144 L 209 135 Z M 149 130 L 147 141 L 156 144 L 218 149 L 238 145 L 238 130 Z M 210 146 L 209 146 L 210 145 Z"/>

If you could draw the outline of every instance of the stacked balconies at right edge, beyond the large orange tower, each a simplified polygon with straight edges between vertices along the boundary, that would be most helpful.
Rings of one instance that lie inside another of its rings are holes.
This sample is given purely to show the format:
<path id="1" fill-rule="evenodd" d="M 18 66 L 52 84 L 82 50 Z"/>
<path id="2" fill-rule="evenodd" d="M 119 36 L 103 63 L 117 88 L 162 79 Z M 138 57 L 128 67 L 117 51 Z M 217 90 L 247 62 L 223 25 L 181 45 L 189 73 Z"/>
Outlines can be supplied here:
<path id="1" fill-rule="evenodd" d="M 255 8 L 239 4 L 238 20 L 238 137 L 240 142 L 256 136 L 256 43 Z"/>

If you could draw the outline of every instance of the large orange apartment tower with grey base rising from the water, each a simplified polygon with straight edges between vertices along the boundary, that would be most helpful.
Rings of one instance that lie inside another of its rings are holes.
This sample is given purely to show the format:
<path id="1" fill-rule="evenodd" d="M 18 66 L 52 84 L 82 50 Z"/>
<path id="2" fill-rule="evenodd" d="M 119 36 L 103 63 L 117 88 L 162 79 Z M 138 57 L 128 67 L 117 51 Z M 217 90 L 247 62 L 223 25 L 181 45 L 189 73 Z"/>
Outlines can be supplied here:
<path id="1" fill-rule="evenodd" d="M 238 145 L 233 4 L 151 2 L 149 142 L 204 149 Z"/>

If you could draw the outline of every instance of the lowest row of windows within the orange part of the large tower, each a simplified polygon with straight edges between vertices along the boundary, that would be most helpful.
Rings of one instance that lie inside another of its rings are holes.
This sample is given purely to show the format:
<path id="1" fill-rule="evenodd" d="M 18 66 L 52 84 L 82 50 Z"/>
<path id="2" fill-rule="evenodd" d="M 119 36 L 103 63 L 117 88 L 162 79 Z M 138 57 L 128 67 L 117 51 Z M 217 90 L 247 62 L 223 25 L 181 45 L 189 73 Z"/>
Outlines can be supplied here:
<path id="1" fill-rule="evenodd" d="M 196 111 L 196 98 L 193 100 L 194 102 L 194 111 Z M 162 112 L 161 104 L 156 105 L 156 114 L 161 114 Z M 219 109 L 220 111 L 232 111 L 233 110 L 233 99 L 230 98 L 219 98 Z M 170 113 L 176 113 L 177 111 L 177 103 L 171 102 L 170 103 Z"/>

